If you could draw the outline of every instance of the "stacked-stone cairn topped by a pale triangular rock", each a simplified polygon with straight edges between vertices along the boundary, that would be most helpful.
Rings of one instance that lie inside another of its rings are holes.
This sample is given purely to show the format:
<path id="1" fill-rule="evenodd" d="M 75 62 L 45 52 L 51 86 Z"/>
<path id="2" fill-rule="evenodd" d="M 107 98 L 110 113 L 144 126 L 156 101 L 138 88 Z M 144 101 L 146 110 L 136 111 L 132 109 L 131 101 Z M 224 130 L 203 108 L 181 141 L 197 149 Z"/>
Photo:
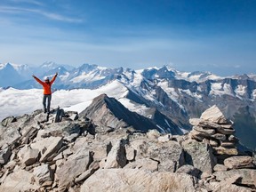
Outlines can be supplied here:
<path id="1" fill-rule="evenodd" d="M 238 155 L 236 148 L 238 139 L 234 136 L 233 123 L 217 106 L 208 108 L 200 118 L 192 118 L 189 123 L 193 125 L 189 133 L 190 138 L 210 144 L 217 157 Z"/>

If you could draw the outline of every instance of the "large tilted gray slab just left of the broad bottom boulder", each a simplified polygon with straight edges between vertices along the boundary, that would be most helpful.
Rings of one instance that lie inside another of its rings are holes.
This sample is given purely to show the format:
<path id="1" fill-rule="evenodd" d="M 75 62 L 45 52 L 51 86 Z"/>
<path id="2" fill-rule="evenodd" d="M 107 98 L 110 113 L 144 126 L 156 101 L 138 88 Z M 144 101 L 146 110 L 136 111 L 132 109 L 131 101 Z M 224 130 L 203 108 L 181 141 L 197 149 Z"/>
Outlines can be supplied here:
<path id="1" fill-rule="evenodd" d="M 75 154 L 68 156 L 68 160 L 64 162 L 56 170 L 56 180 L 59 187 L 68 187 L 72 181 L 85 172 L 92 163 L 92 152 L 80 148 Z"/>

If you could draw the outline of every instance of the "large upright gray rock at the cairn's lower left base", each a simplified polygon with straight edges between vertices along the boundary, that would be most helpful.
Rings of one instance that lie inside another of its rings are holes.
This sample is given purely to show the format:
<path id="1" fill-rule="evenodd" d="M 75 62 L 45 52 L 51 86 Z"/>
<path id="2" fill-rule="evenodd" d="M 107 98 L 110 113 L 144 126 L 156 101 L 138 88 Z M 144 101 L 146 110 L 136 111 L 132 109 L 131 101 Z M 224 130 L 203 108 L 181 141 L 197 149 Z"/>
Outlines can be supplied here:
<path id="1" fill-rule="evenodd" d="M 186 151 L 186 162 L 193 165 L 201 172 L 212 174 L 213 167 L 217 164 L 216 158 L 212 154 L 212 147 L 196 140 L 183 142 Z"/>

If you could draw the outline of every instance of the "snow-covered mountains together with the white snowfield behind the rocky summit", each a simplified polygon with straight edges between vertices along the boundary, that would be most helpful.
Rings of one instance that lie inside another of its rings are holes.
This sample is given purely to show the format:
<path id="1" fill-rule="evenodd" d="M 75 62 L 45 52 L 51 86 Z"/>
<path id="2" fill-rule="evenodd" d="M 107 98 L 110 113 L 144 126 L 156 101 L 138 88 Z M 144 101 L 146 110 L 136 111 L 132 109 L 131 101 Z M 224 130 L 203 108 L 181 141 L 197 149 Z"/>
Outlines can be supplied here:
<path id="1" fill-rule="evenodd" d="M 52 107 L 82 112 L 93 98 L 106 93 L 130 111 L 151 119 L 163 132 L 182 134 L 191 129 L 189 118 L 199 117 L 206 108 L 217 105 L 235 122 L 236 134 L 242 142 L 256 148 L 255 75 L 220 77 L 210 72 L 180 72 L 168 66 L 133 70 L 84 64 L 67 69 L 49 63 L 44 68 L 48 68 L 46 73 L 35 75 L 43 78 L 59 73 L 52 87 L 59 90 L 53 93 Z M 0 91 L 1 99 L 8 98 L 0 100 L 2 118 L 41 108 L 42 93 L 35 89 L 41 85 L 34 79 L 13 87 L 23 90 Z"/>

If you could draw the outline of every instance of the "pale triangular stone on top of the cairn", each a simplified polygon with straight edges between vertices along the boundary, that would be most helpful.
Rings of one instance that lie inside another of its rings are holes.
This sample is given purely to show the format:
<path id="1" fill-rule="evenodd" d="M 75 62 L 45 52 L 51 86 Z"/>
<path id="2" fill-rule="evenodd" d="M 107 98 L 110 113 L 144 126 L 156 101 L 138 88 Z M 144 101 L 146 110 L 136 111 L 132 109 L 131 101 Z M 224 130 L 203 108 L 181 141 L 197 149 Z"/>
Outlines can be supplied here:
<path id="1" fill-rule="evenodd" d="M 220 108 L 218 108 L 216 105 L 212 106 L 211 108 L 208 108 L 204 111 L 204 113 L 201 115 L 200 119 L 203 119 L 204 121 L 213 122 L 216 124 L 229 124 L 230 122 L 226 117 L 223 115 L 223 113 L 220 111 Z"/>

